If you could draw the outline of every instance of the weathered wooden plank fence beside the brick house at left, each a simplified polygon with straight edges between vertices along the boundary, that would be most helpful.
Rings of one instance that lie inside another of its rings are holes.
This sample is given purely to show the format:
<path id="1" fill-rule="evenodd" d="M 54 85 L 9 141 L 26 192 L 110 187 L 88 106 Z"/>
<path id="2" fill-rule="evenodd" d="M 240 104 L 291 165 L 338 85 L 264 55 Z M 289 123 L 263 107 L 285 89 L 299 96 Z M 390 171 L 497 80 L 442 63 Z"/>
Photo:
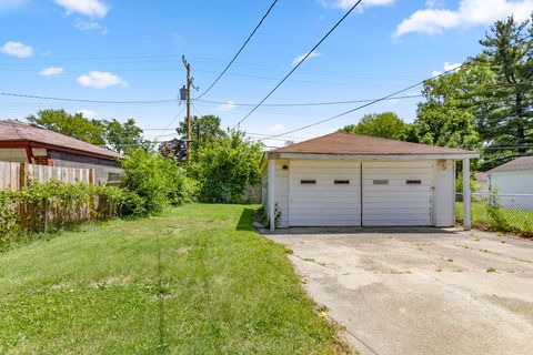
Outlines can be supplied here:
<path id="1" fill-rule="evenodd" d="M 0 162 L 0 190 L 20 190 L 32 180 L 42 183 L 57 180 L 73 184 L 93 184 L 94 170 Z"/>

